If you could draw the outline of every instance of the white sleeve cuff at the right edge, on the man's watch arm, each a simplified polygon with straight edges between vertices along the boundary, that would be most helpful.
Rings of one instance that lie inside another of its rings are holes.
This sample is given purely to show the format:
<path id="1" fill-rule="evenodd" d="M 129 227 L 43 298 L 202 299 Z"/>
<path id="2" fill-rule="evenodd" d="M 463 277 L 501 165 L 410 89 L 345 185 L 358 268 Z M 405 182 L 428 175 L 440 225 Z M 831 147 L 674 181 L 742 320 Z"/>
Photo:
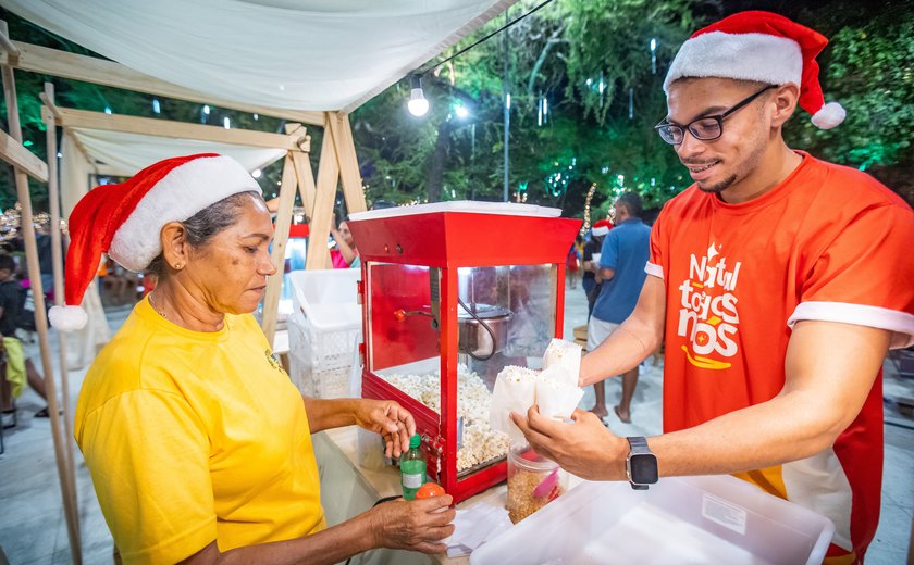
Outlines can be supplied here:
<path id="1" fill-rule="evenodd" d="M 650 265 L 650 263 L 649 263 Z M 646 269 L 645 269 L 646 271 Z M 650 271 L 649 271 L 650 273 Z M 802 319 L 818 319 L 822 322 L 840 322 L 892 331 L 890 349 L 904 349 L 914 344 L 914 315 L 898 310 L 847 302 L 802 302 L 793 311 L 787 325 L 793 325 Z"/>

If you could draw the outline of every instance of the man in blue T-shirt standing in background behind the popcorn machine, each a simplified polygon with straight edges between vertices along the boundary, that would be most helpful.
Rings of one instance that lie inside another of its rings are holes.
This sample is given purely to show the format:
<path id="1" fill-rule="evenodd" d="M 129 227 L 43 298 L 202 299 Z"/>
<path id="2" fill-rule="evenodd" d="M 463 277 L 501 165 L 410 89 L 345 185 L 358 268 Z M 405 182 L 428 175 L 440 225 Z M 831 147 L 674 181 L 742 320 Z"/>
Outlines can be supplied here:
<path id="1" fill-rule="evenodd" d="M 616 200 L 616 228 L 603 240 L 596 282 L 600 296 L 588 323 L 588 351 L 594 351 L 634 310 L 638 294 L 644 285 L 644 264 L 647 263 L 651 228 L 641 221 L 641 197 L 626 192 Z M 638 386 L 638 365 L 622 374 L 622 399 L 614 406 L 616 416 L 631 423 L 631 398 Z M 591 412 L 605 418 L 606 391 L 603 380 L 593 384 L 596 404 Z"/>

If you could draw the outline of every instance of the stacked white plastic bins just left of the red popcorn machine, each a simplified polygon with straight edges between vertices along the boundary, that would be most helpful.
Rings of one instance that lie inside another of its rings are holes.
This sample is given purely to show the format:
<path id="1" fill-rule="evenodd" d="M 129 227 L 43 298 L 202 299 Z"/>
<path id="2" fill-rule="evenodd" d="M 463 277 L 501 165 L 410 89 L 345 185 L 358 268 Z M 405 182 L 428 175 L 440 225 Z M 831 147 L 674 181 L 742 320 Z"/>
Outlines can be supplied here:
<path id="1" fill-rule="evenodd" d="M 358 336 L 357 269 L 297 271 L 289 275 L 293 315 L 288 319 L 289 373 L 308 395 L 349 395 L 349 373 Z"/>

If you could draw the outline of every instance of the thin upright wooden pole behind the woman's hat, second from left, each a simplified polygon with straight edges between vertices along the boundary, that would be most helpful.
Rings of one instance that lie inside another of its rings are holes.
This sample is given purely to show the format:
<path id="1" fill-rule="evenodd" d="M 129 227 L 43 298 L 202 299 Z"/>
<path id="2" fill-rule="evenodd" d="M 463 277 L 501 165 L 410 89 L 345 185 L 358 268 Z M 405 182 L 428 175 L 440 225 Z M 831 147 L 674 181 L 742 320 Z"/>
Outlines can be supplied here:
<path id="1" fill-rule="evenodd" d="M 45 83 L 45 92 L 42 100 L 47 99 L 51 104 L 54 101 L 54 85 Z M 54 274 L 54 304 L 62 306 L 64 303 L 63 294 L 63 246 L 61 244 L 60 234 L 60 183 L 58 178 L 58 160 L 57 160 L 57 123 L 54 122 L 53 111 L 45 112 L 45 123 L 47 124 L 48 137 L 48 203 L 51 213 L 51 261 L 53 264 Z M 76 497 L 76 466 L 73 463 L 73 417 L 71 416 L 70 402 L 70 371 L 66 363 L 66 332 L 58 331 L 58 350 L 60 353 L 60 386 L 63 398 L 63 423 L 66 430 L 65 445 L 66 445 L 66 465 L 70 467 L 70 488 L 73 495 Z"/>

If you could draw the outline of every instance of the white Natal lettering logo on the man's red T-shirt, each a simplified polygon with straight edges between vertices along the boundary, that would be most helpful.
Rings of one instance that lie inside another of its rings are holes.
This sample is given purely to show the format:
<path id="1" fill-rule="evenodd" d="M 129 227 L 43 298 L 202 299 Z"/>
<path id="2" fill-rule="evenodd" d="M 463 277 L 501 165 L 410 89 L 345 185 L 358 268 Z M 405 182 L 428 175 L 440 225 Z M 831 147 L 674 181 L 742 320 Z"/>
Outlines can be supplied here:
<path id="1" fill-rule="evenodd" d="M 687 339 L 688 346 L 682 346 L 682 350 L 696 367 L 728 368 L 731 363 L 726 359 L 737 354 L 734 337 L 740 316 L 733 291 L 741 265 L 740 262 L 728 265 L 714 243 L 705 256 L 699 259 L 692 254 L 689 259 L 689 278 L 679 286 L 681 307 L 677 332 Z"/>

